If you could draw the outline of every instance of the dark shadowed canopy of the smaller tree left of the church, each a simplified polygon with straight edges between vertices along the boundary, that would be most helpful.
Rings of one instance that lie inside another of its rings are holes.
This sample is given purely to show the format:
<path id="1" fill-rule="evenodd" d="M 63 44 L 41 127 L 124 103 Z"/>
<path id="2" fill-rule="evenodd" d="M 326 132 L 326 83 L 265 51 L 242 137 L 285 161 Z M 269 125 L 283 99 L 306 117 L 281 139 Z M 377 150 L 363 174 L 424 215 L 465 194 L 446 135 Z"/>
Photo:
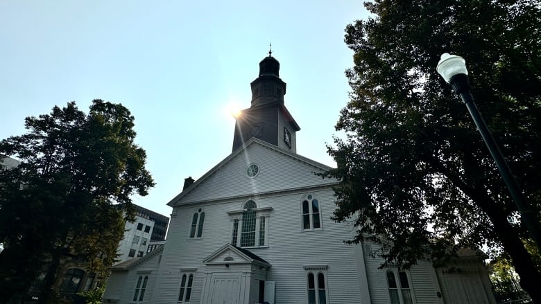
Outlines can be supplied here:
<path id="1" fill-rule="evenodd" d="M 130 195 L 154 186 L 134 118 L 120 104 L 94 100 L 85 114 L 69 102 L 25 120 L 28 132 L 0 141 L 17 168 L 0 170 L 0 302 L 26 292 L 45 271 L 40 303 L 51 300 L 62 256 L 88 261 L 103 276 L 117 258 Z"/>

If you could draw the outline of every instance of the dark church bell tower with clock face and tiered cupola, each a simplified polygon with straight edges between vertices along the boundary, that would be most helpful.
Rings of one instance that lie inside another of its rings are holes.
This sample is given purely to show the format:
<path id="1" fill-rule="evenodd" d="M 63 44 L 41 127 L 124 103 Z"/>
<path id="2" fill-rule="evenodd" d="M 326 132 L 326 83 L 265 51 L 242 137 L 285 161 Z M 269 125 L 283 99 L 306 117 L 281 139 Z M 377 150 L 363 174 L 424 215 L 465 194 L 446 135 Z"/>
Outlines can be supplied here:
<path id="1" fill-rule="evenodd" d="M 272 56 L 272 51 L 259 62 L 259 76 L 250 87 L 252 102 L 237 116 L 233 151 L 255 137 L 296 153 L 296 132 L 300 127 L 284 105 L 286 83 L 280 79 L 280 62 Z"/>

